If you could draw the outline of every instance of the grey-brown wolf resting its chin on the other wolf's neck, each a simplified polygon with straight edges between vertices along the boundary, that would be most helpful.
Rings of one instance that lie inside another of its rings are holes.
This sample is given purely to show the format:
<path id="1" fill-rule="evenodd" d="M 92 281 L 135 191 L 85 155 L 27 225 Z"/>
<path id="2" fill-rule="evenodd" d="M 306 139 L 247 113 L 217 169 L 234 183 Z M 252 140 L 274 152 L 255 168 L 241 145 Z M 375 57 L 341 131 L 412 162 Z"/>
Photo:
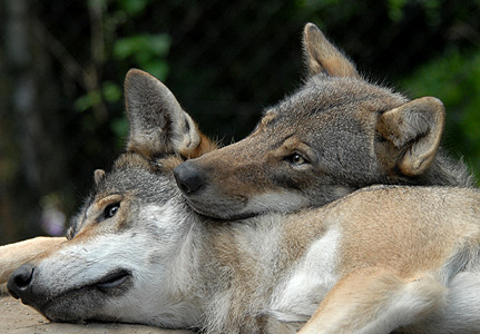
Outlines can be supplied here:
<path id="1" fill-rule="evenodd" d="M 374 184 L 471 187 L 439 148 L 444 107 L 370 84 L 313 23 L 303 32 L 310 76 L 267 108 L 245 139 L 175 169 L 198 213 L 223 219 L 321 206 Z"/>

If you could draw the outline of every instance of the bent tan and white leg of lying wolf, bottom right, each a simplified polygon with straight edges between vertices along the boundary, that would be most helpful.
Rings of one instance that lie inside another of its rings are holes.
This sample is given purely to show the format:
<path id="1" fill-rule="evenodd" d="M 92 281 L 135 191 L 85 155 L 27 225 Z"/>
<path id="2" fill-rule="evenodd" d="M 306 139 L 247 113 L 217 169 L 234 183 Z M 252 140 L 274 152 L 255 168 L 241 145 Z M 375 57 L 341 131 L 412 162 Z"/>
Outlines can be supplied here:
<path id="1" fill-rule="evenodd" d="M 385 268 L 357 269 L 333 287 L 300 333 L 390 333 L 442 310 L 445 295 L 429 274 L 406 281 Z"/>

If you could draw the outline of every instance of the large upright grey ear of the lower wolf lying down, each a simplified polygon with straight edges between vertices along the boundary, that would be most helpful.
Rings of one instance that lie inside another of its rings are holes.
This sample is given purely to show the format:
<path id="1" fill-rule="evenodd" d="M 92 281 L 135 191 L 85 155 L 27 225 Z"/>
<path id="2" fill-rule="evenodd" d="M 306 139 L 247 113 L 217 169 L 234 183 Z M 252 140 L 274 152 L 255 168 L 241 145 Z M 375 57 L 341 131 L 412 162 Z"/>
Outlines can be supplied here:
<path id="1" fill-rule="evenodd" d="M 177 153 L 193 158 L 210 149 L 212 143 L 172 91 L 149 73 L 128 71 L 125 99 L 130 125 L 127 150 L 144 156 Z"/>

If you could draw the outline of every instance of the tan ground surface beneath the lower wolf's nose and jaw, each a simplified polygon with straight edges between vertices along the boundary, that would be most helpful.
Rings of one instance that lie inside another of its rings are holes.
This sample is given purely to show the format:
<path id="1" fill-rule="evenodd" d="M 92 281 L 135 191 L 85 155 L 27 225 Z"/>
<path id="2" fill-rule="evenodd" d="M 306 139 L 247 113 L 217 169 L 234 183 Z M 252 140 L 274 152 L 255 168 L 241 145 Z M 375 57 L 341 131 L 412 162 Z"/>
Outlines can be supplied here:
<path id="1" fill-rule="evenodd" d="M 9 334 L 192 334 L 130 324 L 50 323 L 33 308 L 9 296 L 0 297 L 0 333 Z"/>

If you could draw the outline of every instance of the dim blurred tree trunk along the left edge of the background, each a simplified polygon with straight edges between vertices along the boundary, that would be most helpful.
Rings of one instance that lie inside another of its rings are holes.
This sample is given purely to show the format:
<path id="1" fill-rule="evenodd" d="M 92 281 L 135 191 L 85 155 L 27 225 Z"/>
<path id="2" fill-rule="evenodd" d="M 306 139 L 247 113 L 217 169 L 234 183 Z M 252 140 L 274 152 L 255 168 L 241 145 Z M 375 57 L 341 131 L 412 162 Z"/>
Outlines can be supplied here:
<path id="1" fill-rule="evenodd" d="M 0 243 L 41 233 L 40 199 L 62 183 L 63 155 L 50 59 L 32 33 L 28 0 L 0 4 Z M 14 218 L 13 218 L 14 217 Z"/>

